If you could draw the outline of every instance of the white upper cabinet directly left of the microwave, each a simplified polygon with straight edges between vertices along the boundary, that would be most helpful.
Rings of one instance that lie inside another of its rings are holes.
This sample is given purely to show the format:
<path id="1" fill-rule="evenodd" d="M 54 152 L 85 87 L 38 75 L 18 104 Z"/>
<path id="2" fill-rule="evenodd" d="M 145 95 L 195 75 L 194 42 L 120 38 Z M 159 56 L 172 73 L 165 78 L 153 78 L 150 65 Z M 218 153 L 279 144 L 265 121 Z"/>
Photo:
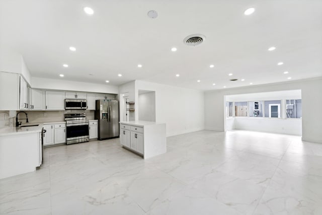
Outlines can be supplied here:
<path id="1" fill-rule="evenodd" d="M 64 110 L 65 92 L 46 91 L 46 110 Z"/>

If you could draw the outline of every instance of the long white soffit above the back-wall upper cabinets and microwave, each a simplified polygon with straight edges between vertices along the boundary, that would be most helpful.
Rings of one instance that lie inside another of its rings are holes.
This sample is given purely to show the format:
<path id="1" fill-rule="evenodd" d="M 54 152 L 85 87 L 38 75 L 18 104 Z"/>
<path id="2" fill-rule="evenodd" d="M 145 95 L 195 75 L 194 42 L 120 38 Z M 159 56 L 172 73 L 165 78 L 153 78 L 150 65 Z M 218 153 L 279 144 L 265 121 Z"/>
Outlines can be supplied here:
<path id="1" fill-rule="evenodd" d="M 85 82 L 32 77 L 32 88 L 118 94 L 118 87 Z"/>

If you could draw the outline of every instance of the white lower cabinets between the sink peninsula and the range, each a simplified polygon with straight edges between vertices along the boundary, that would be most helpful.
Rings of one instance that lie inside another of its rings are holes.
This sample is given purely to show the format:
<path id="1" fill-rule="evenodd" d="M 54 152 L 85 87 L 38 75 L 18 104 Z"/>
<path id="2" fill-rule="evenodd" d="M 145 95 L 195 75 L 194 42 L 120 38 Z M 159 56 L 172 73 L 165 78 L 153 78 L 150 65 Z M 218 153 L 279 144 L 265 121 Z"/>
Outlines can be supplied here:
<path id="1" fill-rule="evenodd" d="M 66 142 L 66 124 L 44 125 L 44 146 L 64 144 Z"/>

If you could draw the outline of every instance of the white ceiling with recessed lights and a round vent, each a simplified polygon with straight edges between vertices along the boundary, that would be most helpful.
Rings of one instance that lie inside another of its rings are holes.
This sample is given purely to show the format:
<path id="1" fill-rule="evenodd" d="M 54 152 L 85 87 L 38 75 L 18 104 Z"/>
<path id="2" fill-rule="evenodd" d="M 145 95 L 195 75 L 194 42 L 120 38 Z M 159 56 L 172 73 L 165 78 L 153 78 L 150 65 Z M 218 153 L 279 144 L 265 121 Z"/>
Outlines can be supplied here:
<path id="1" fill-rule="evenodd" d="M 245 16 L 250 7 L 255 13 Z M 321 11 L 319 0 L 0 0 L 0 45 L 21 53 L 34 77 L 232 88 L 322 76 Z M 196 33 L 206 36 L 201 45 L 183 43 Z"/>

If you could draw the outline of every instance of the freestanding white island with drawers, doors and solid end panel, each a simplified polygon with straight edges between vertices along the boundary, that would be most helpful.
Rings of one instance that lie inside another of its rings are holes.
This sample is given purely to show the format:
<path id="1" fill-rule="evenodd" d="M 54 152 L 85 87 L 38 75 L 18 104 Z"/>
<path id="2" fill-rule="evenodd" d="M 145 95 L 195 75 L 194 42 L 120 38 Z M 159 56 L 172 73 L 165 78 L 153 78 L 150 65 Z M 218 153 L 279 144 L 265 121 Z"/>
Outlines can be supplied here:
<path id="1" fill-rule="evenodd" d="M 120 144 L 144 159 L 166 153 L 166 124 L 149 121 L 120 122 Z"/>

